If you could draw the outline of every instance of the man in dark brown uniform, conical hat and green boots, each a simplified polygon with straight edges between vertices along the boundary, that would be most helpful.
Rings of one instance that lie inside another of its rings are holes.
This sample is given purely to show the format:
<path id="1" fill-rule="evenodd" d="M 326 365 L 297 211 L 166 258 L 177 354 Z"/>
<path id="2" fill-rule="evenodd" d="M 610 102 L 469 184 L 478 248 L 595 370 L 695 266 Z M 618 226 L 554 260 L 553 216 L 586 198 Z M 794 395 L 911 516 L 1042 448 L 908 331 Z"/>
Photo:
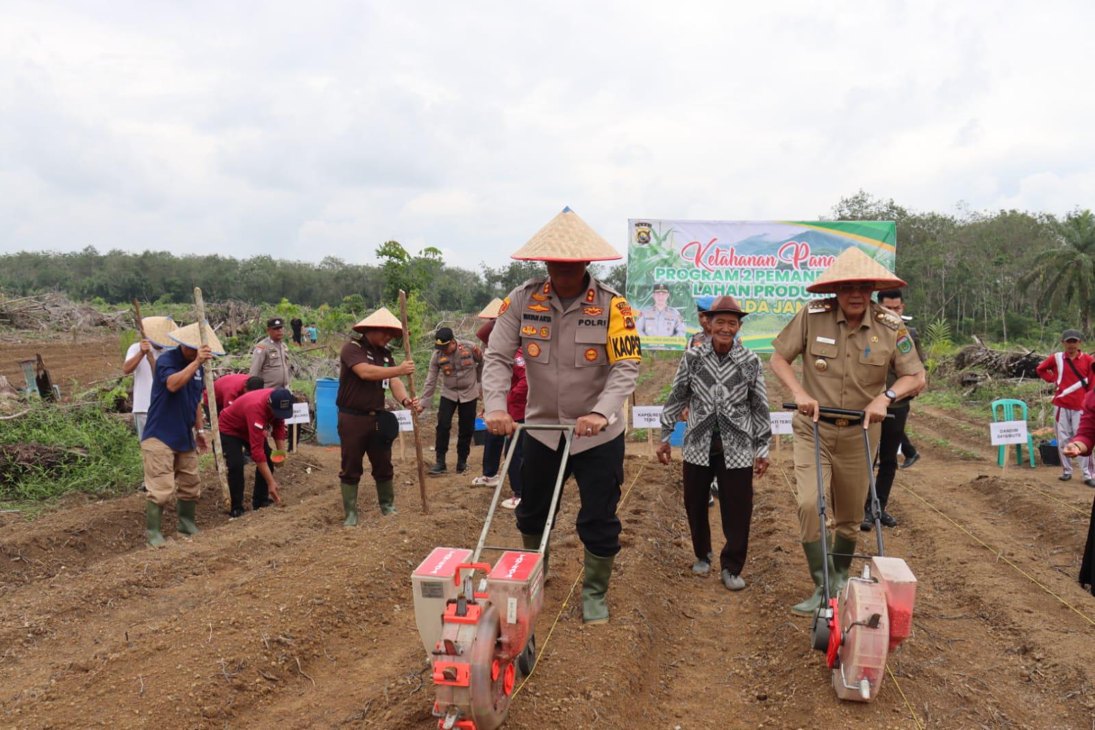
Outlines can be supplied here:
<path id="1" fill-rule="evenodd" d="M 401 375 L 414 372 L 414 361 L 395 364 L 388 343 L 403 335 L 403 325 L 381 306 L 356 325 L 360 339 L 350 339 L 338 354 L 338 440 L 342 444 L 343 511 L 347 528 L 357 525 L 357 487 L 361 482 L 362 460 L 368 456 L 377 483 L 381 514 L 395 514 L 395 474 L 392 467 L 392 441 L 400 434 L 395 415 L 384 409 L 384 385 L 404 408 L 422 412 L 417 398 L 407 397 Z"/>

